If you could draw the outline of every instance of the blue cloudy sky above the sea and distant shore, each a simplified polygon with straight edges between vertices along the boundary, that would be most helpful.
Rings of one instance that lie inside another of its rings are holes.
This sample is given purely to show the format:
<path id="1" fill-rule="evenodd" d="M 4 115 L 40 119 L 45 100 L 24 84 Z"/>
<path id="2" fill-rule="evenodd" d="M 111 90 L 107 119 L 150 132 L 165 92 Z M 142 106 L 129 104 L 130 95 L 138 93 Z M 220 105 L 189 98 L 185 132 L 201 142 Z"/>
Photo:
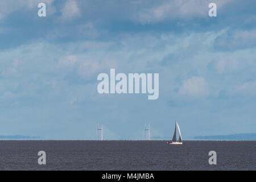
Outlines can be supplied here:
<path id="1" fill-rule="evenodd" d="M 38 4 L 46 3 L 46 17 Z M 209 3 L 217 17 L 209 17 Z M 0 1 L 0 135 L 183 139 L 256 131 L 256 2 Z M 159 73 L 159 98 L 97 75 Z"/>

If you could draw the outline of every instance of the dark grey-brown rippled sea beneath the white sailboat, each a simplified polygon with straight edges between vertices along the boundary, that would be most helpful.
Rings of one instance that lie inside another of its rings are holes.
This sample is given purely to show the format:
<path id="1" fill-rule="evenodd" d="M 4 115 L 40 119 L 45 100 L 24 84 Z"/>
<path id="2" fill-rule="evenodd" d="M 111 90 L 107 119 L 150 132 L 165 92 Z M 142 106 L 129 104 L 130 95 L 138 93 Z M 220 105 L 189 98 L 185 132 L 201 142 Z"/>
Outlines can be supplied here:
<path id="1" fill-rule="evenodd" d="M 256 170 L 256 141 L 1 140 L 1 170 Z M 209 165 L 209 151 L 217 165 Z M 46 165 L 38 164 L 46 151 Z"/>

